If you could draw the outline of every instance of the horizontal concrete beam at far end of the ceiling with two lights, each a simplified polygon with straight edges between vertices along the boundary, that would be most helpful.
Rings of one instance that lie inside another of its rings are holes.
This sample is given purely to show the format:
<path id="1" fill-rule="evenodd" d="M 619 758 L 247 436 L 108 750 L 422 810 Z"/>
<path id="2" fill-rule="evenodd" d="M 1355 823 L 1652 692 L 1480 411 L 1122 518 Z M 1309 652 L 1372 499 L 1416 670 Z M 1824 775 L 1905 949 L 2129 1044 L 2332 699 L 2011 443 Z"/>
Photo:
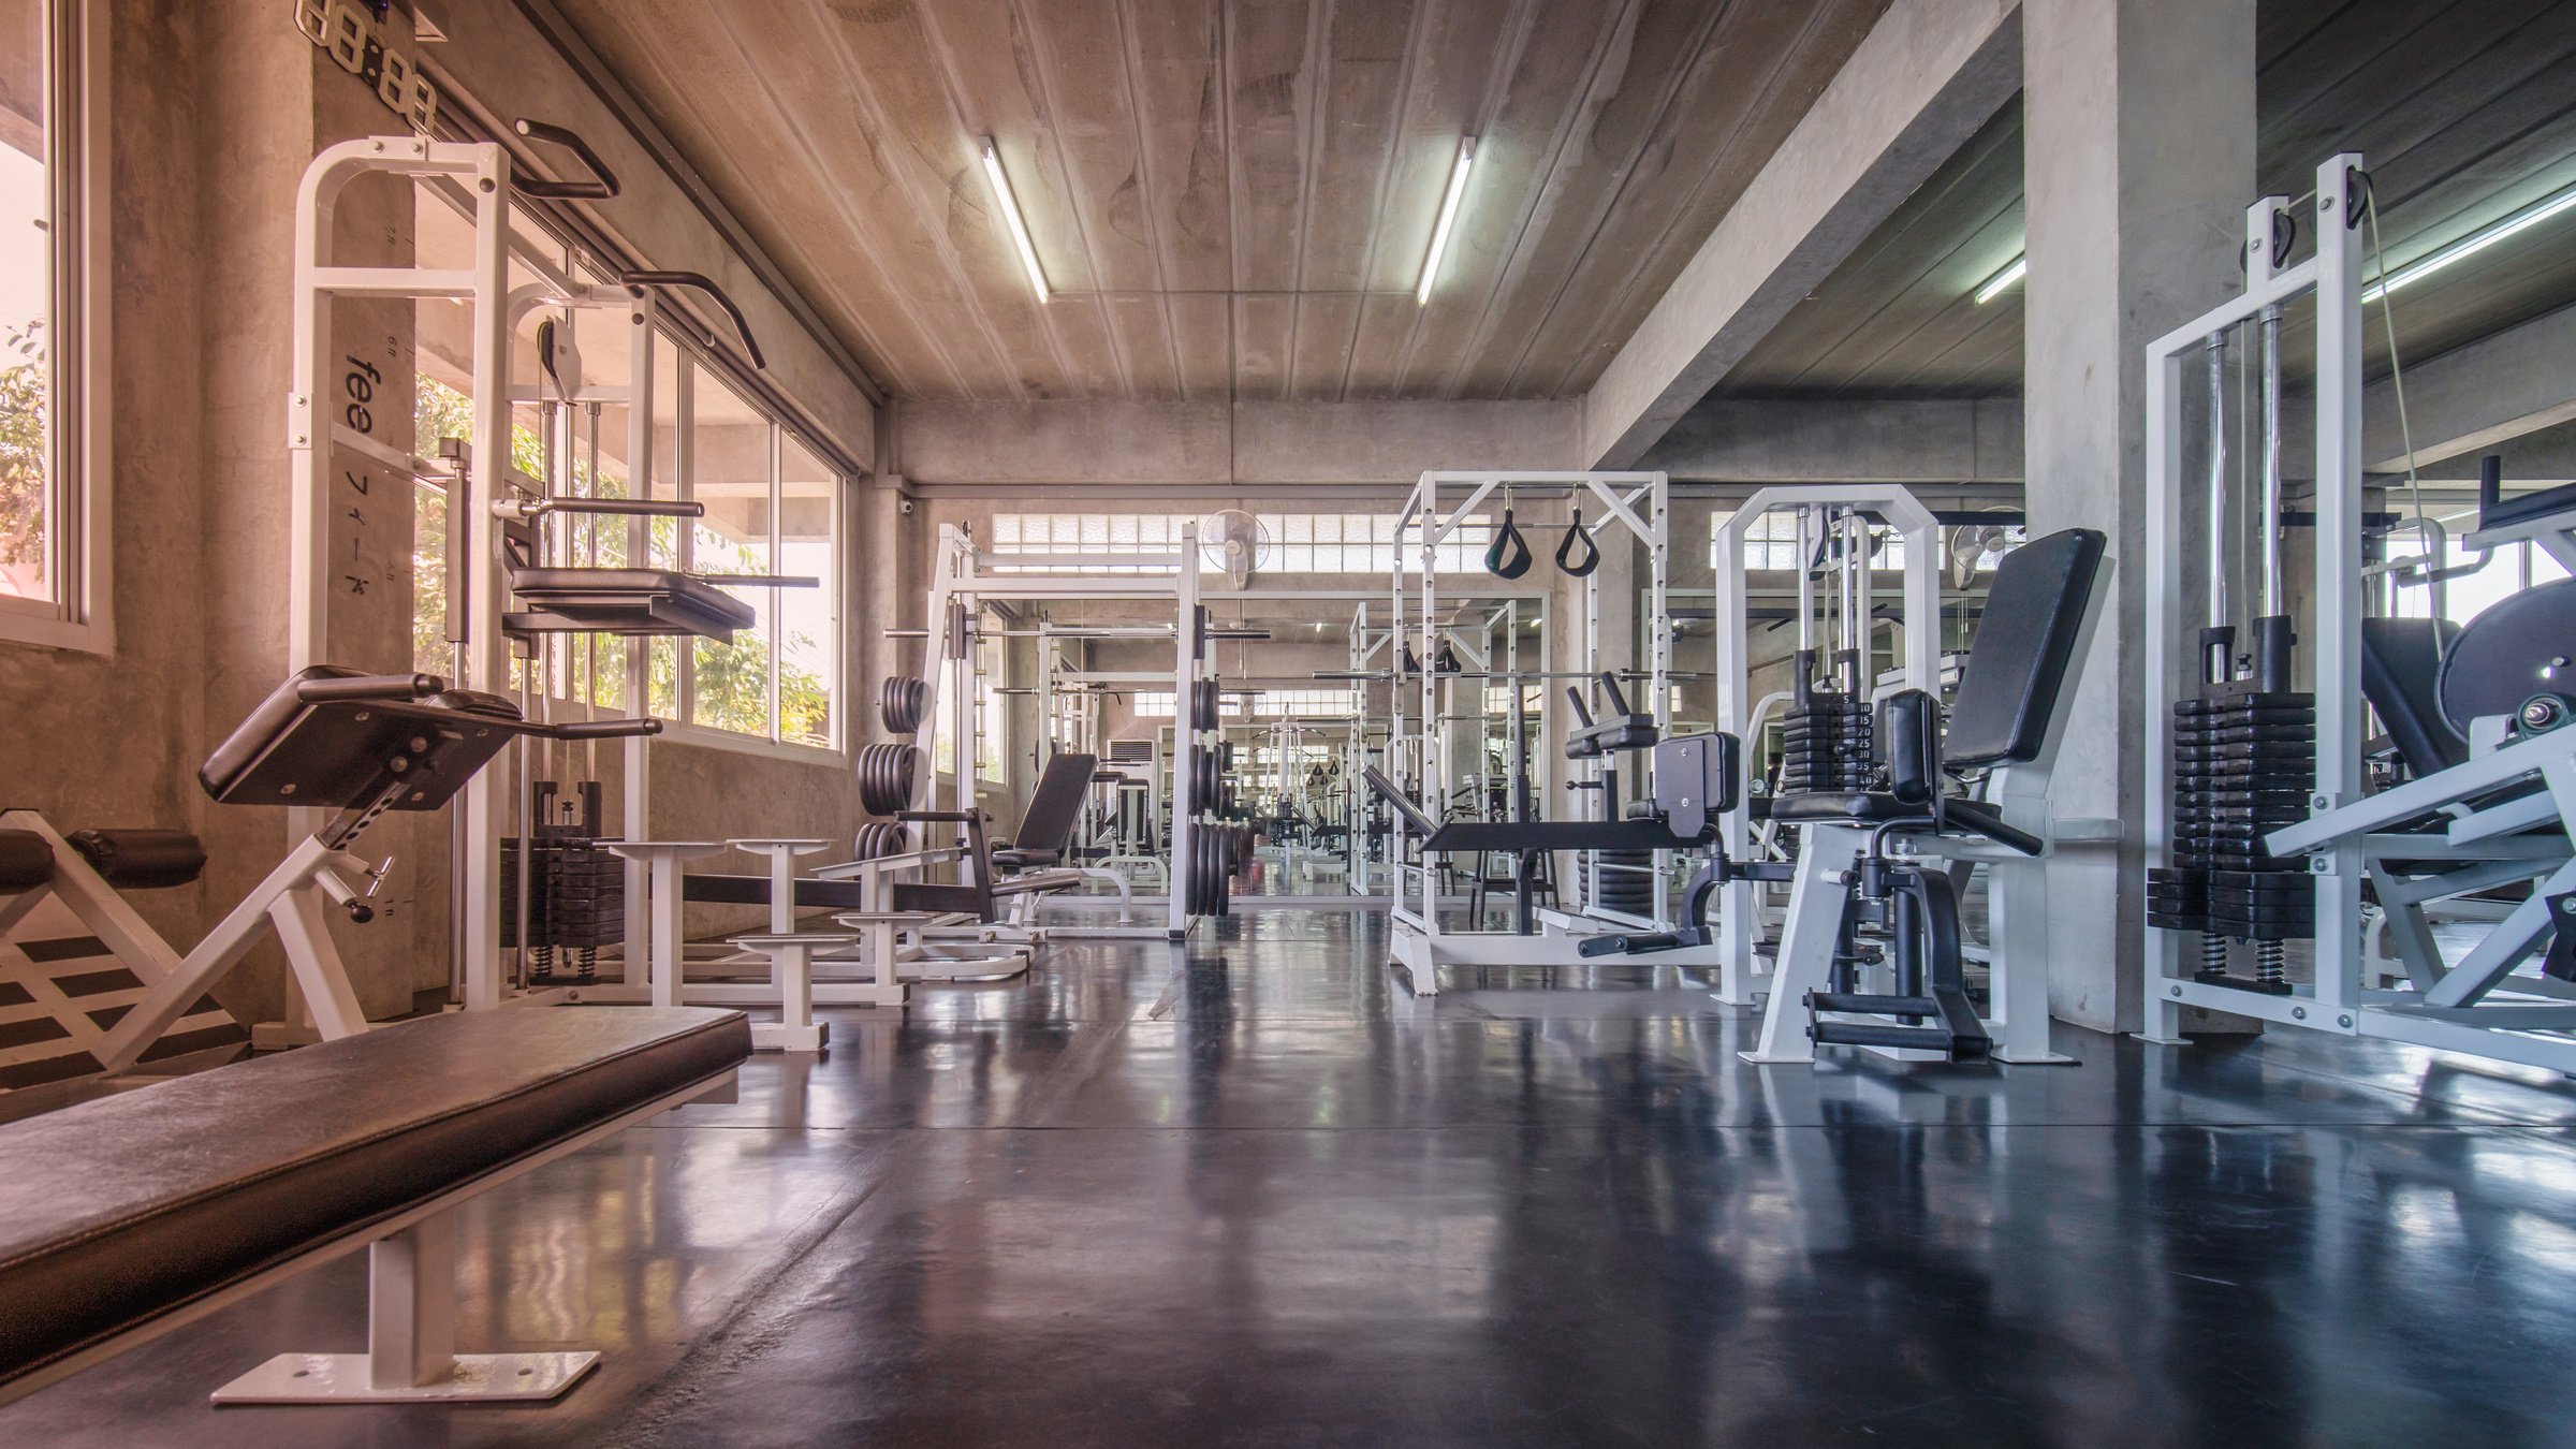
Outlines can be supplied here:
<path id="1" fill-rule="evenodd" d="M 917 485 L 1409 485 L 1574 467 L 1574 402 L 902 402 Z"/>

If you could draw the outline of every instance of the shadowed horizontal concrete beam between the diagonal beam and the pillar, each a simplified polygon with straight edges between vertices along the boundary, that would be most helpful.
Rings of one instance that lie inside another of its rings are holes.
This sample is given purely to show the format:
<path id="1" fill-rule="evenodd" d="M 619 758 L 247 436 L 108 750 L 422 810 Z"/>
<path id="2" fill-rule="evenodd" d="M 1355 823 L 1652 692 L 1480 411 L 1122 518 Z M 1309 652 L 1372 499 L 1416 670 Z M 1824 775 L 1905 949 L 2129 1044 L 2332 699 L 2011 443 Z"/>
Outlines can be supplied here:
<path id="1" fill-rule="evenodd" d="M 1636 467 L 1690 482 L 2022 482 L 2022 402 L 1705 400 Z"/>

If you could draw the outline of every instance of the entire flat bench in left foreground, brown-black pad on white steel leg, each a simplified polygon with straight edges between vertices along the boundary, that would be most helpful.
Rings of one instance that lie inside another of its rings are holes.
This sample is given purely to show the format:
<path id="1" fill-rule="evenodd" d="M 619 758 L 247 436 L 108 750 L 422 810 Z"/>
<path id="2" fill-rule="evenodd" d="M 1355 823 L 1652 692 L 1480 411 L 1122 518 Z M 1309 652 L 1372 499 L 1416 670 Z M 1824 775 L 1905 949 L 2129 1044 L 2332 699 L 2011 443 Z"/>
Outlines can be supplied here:
<path id="1" fill-rule="evenodd" d="M 453 1207 L 719 1091 L 703 1008 L 469 1011 L 0 1127 L 0 1403 L 374 1245 L 368 1351 L 281 1354 L 214 1403 L 546 1400 L 598 1354 L 456 1354 Z"/>

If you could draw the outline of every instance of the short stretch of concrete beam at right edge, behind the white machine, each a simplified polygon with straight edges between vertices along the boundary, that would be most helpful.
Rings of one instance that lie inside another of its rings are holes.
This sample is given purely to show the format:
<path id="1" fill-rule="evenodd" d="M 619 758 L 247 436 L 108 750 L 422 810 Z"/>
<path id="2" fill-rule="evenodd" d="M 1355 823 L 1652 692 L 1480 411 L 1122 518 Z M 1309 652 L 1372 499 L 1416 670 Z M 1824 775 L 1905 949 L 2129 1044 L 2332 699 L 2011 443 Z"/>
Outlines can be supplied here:
<path id="1" fill-rule="evenodd" d="M 2375 322 L 2375 320 L 2372 320 Z M 2509 438 L 2576 420 L 2576 307 L 2532 317 L 2519 327 L 2452 348 L 2406 369 L 2406 420 L 2414 431 L 2416 472 L 2445 459 L 2465 462 L 2439 477 L 2478 477 L 2476 456 Z M 2362 394 L 2362 472 L 2406 472 L 2398 431 L 2396 379 Z"/>

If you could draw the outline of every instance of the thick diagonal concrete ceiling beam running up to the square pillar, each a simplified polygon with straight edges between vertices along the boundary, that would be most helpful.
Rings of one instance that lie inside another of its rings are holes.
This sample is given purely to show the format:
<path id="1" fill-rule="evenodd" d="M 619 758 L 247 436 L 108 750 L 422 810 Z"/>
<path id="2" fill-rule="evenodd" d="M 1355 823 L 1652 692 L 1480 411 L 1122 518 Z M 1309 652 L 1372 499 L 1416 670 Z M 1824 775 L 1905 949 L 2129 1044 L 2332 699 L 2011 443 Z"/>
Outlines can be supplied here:
<path id="1" fill-rule="evenodd" d="M 1633 467 L 2022 85 L 2014 0 L 1896 0 L 1584 397 Z"/>

